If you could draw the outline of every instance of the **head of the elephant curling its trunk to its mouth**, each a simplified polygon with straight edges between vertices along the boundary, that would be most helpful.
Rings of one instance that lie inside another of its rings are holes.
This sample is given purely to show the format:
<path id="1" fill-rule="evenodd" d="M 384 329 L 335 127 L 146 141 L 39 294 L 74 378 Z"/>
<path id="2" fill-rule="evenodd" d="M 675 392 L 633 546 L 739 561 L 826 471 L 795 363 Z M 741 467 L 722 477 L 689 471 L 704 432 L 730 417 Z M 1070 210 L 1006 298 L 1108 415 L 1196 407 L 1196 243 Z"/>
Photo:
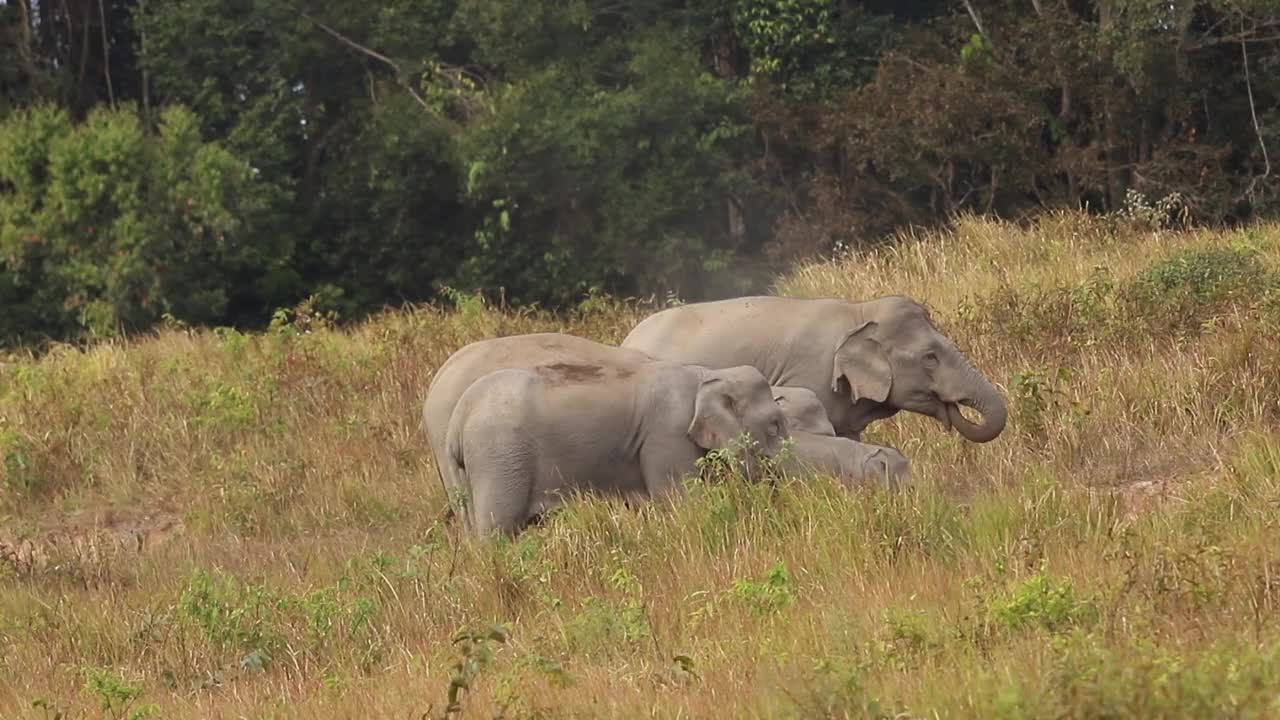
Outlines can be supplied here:
<path id="1" fill-rule="evenodd" d="M 936 418 L 973 442 L 989 442 L 1005 429 L 1007 406 L 1000 391 L 974 369 L 919 304 L 900 296 L 858 306 L 856 322 L 836 343 L 832 391 L 849 392 L 865 423 L 910 410 Z M 960 414 L 977 410 L 978 423 Z"/>

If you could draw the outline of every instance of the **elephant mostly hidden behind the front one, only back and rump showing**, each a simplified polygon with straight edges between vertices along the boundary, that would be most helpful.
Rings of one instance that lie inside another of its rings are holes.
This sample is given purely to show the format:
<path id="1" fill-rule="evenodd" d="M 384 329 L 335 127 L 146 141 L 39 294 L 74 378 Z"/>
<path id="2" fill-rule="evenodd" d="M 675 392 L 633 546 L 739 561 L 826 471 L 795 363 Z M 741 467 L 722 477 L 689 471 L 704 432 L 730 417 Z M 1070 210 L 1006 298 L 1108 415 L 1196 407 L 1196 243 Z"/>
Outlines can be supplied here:
<path id="1" fill-rule="evenodd" d="M 444 473 L 444 438 L 449 416 L 458 398 L 476 379 L 508 368 L 530 368 L 552 363 L 579 363 L 628 368 L 654 360 L 636 351 L 564 333 L 532 333 L 488 338 L 463 346 L 440 365 L 428 386 L 422 402 L 422 429 L 426 432 L 431 456 L 445 495 L 460 488 L 451 487 Z M 452 501 L 452 497 L 451 497 Z"/>

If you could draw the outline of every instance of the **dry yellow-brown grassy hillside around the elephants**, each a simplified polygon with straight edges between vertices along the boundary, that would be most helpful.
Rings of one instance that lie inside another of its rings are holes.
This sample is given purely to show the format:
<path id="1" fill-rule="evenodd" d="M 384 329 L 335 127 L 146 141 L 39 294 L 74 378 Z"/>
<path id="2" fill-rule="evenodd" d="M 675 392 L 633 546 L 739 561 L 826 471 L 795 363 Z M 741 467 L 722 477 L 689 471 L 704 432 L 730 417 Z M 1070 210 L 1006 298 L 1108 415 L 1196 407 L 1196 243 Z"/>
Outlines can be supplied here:
<path id="1" fill-rule="evenodd" d="M 460 542 L 419 434 L 453 350 L 645 309 L 170 328 L 0 369 L 0 715 L 1280 714 L 1280 225 L 1052 217 L 814 264 L 927 302 L 1011 402 L 873 425 L 910 492 L 691 486 Z M 495 629 L 494 625 L 500 629 Z M 465 688 L 465 689 L 463 689 Z M 125 708 L 125 710 L 122 710 Z"/>

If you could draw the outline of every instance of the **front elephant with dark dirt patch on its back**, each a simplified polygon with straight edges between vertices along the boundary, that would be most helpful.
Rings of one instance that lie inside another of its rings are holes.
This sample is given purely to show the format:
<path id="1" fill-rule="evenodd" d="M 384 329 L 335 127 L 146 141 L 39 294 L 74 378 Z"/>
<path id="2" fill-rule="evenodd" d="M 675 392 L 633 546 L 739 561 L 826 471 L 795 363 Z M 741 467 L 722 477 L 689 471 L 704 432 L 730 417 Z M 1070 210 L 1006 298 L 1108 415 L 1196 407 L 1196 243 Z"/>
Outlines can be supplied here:
<path id="1" fill-rule="evenodd" d="M 742 433 L 767 457 L 787 438 L 786 418 L 755 368 L 511 368 L 462 393 L 443 471 L 452 487 L 470 491 L 475 534 L 515 536 L 575 492 L 669 501 L 699 457 Z M 745 461 L 751 474 L 750 456 Z"/>

